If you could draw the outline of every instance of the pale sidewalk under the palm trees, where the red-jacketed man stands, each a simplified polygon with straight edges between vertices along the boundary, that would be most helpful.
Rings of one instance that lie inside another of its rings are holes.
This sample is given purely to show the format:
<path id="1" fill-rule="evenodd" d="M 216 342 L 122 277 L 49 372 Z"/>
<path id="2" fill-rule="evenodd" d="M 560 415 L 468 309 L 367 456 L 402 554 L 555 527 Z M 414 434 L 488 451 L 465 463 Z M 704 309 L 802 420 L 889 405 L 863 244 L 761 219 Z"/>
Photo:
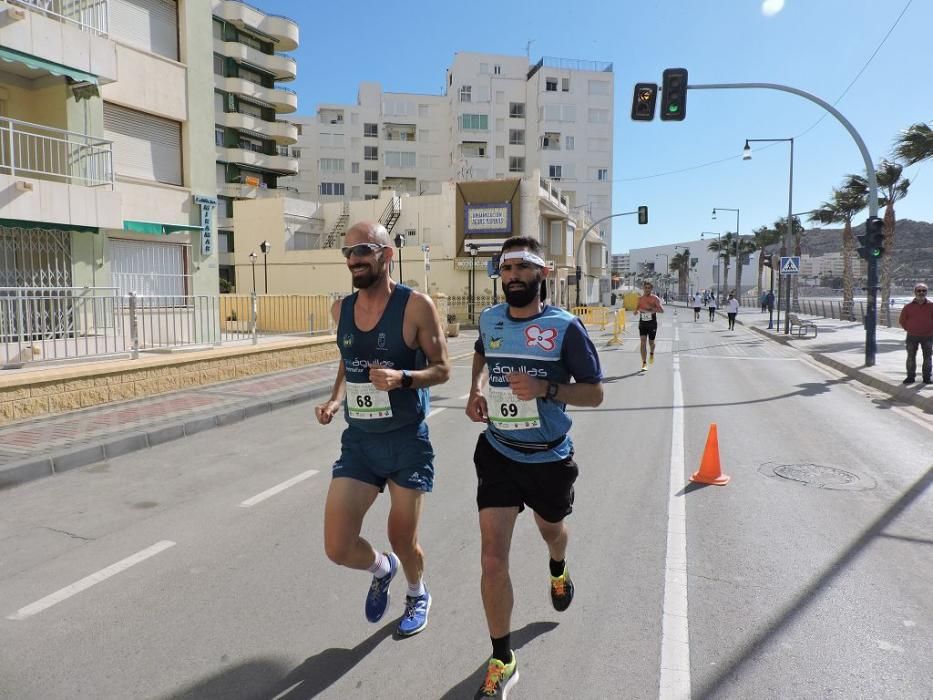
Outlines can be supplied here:
<path id="1" fill-rule="evenodd" d="M 725 319 L 726 314 L 722 309 L 718 314 Z M 916 384 L 905 386 L 902 383 L 907 376 L 907 351 L 904 349 L 904 331 L 901 328 L 876 327 L 875 364 L 866 367 L 865 327 L 860 322 L 807 314 L 797 316 L 802 321 L 813 321 L 816 324 L 817 337 L 814 338 L 812 332 L 809 338 L 784 335 L 784 315 L 781 314 L 778 327 L 777 312 L 774 314 L 774 328 L 768 330 L 768 313 L 762 313 L 760 308 L 743 306 L 736 316 L 736 324 L 747 326 L 773 341 L 805 352 L 817 362 L 888 394 L 895 402 L 917 406 L 933 415 L 933 384 L 923 384 L 919 375 Z M 921 356 L 919 352 L 917 355 L 919 365 Z"/>

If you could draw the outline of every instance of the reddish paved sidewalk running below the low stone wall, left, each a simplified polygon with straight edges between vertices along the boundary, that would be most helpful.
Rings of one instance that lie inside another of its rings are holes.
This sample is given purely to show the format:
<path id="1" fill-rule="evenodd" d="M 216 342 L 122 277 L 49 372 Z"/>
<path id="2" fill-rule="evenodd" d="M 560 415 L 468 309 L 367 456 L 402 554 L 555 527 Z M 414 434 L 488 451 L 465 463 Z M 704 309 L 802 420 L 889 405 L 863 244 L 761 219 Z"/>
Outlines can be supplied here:
<path id="1" fill-rule="evenodd" d="M 472 355 L 475 340 L 475 331 L 449 338 L 450 357 Z M 336 367 L 311 365 L 2 426 L 0 489 L 327 396 Z"/>

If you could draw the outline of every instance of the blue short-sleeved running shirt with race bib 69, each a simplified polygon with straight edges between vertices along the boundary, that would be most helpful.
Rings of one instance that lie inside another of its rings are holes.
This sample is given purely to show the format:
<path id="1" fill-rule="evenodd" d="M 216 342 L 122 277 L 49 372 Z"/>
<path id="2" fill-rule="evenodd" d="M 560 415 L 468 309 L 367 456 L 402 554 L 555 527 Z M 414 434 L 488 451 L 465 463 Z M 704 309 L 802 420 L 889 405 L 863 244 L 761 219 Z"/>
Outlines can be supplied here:
<path id="1" fill-rule="evenodd" d="M 569 384 L 571 379 L 601 382 L 599 355 L 583 324 L 554 306 L 516 319 L 509 315 L 508 304 L 498 304 L 480 315 L 479 332 L 475 350 L 485 357 L 489 370 L 489 444 L 516 462 L 566 459 L 573 450 L 567 435 L 572 421 L 566 404 L 546 399 L 519 401 L 506 377 L 510 372 L 524 372 L 560 384 Z M 507 443 L 527 447 L 514 449 Z"/>

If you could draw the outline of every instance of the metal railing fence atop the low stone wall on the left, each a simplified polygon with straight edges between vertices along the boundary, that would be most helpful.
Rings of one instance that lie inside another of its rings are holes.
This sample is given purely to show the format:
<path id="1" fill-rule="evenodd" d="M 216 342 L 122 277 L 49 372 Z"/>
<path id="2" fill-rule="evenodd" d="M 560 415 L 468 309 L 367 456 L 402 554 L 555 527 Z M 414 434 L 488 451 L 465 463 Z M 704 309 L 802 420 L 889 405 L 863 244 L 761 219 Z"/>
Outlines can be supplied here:
<path id="1" fill-rule="evenodd" d="M 139 295 L 114 287 L 0 287 L 0 366 L 333 333 L 338 295 Z"/>

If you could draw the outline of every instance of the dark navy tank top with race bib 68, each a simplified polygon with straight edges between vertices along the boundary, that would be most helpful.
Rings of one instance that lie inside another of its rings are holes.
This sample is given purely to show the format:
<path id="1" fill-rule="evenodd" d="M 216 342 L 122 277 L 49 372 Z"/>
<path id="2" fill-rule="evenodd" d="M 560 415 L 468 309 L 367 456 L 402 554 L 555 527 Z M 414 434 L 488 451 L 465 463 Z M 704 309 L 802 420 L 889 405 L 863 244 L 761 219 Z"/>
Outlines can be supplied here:
<path id="1" fill-rule="evenodd" d="M 387 433 L 420 423 L 430 409 L 426 388 L 393 389 L 387 392 L 386 405 L 386 392 L 372 393 L 373 387 L 369 383 L 370 367 L 417 370 L 427 364 L 424 353 L 408 347 L 402 334 L 402 321 L 410 296 L 410 287 L 396 284 L 382 317 L 370 331 L 356 327 L 353 315 L 356 293 L 344 298 L 340 305 L 337 344 L 347 381 L 344 417 L 348 425 L 368 433 Z"/>

